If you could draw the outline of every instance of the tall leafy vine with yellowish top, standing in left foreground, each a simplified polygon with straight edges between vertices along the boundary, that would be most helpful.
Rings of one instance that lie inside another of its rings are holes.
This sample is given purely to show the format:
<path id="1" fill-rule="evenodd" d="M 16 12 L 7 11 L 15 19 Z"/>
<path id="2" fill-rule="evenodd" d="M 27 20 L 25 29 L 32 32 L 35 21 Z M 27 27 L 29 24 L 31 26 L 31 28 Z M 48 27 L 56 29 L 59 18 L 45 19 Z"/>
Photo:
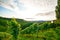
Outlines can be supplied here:
<path id="1" fill-rule="evenodd" d="M 11 22 L 8 23 L 8 31 L 11 35 L 13 35 L 14 40 L 18 40 L 18 36 L 20 35 L 21 25 L 16 21 L 15 18 L 11 19 Z"/>

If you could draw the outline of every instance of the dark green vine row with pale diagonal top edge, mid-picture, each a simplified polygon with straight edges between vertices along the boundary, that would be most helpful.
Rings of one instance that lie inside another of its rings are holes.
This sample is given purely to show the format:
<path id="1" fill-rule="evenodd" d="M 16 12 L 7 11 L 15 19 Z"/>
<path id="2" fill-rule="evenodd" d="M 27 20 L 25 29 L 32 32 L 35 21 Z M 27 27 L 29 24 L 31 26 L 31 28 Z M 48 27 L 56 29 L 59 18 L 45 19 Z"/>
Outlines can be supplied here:
<path id="1" fill-rule="evenodd" d="M 37 29 L 37 24 L 33 23 L 32 25 L 30 25 L 29 27 L 25 28 L 24 30 L 21 31 L 22 34 L 30 34 L 30 33 L 34 33 L 36 32 Z"/>

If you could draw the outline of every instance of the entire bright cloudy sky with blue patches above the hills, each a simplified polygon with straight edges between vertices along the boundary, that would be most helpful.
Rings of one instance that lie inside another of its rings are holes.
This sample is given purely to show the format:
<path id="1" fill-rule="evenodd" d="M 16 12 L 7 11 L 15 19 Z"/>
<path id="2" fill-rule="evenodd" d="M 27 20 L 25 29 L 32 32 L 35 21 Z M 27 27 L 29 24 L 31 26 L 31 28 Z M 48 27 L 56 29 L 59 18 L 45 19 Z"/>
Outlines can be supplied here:
<path id="1" fill-rule="evenodd" d="M 0 0 L 0 16 L 27 21 L 56 20 L 57 0 Z"/>

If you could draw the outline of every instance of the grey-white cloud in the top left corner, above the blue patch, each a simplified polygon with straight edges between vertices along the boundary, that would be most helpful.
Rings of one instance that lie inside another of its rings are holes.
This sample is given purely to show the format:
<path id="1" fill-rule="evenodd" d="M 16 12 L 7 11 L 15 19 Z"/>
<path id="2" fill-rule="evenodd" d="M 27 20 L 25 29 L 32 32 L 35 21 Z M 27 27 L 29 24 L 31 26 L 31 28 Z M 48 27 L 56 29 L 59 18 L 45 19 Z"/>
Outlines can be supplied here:
<path id="1" fill-rule="evenodd" d="M 12 11 L 19 10 L 18 6 L 16 3 L 14 3 L 14 0 L 0 0 L 0 6 L 7 8 Z"/>

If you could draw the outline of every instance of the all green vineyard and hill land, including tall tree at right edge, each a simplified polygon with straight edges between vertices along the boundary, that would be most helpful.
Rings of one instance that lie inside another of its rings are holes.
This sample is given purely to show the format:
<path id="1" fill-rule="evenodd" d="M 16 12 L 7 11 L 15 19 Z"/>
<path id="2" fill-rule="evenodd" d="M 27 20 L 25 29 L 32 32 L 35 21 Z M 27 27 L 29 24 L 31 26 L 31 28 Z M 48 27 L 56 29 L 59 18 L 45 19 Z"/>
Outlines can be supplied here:
<path id="1" fill-rule="evenodd" d="M 0 40 L 60 40 L 60 0 L 55 11 L 53 23 L 0 17 Z"/>

